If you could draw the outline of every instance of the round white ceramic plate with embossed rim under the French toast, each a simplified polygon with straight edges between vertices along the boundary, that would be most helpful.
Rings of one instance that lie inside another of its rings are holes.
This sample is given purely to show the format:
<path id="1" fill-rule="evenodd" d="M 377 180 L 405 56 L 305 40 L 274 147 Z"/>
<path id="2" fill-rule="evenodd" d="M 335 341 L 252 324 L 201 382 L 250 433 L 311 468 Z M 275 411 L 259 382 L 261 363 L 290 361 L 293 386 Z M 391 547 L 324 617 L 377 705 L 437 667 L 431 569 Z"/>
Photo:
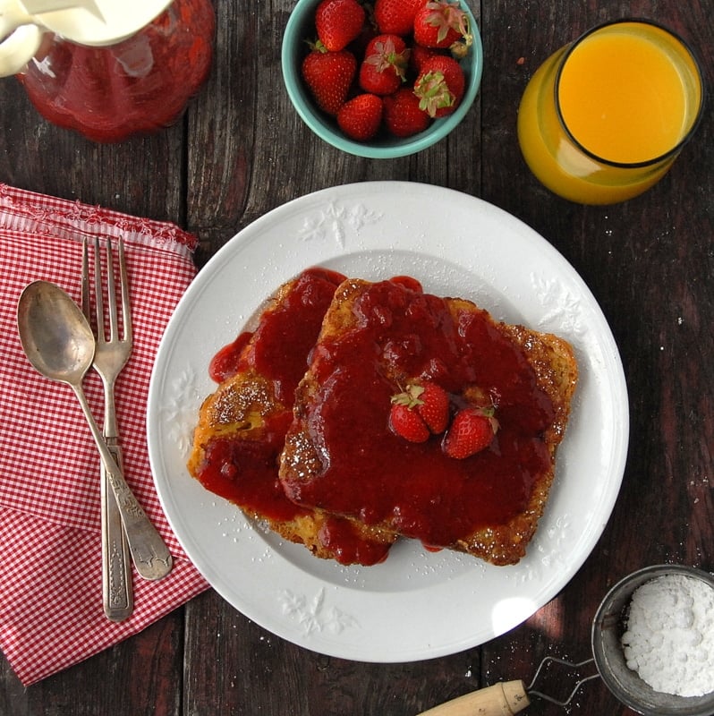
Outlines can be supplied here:
<path id="1" fill-rule="evenodd" d="M 574 345 L 581 379 L 546 514 L 526 558 L 492 567 L 412 541 L 376 567 L 340 567 L 251 526 L 184 466 L 208 362 L 285 280 L 321 264 L 370 280 L 409 274 L 498 320 Z M 246 227 L 200 271 L 159 347 L 149 456 L 166 516 L 225 600 L 294 644 L 357 661 L 417 661 L 482 644 L 554 597 L 588 557 L 625 468 L 625 379 L 587 286 L 539 234 L 463 193 L 358 183 L 293 200 Z"/>

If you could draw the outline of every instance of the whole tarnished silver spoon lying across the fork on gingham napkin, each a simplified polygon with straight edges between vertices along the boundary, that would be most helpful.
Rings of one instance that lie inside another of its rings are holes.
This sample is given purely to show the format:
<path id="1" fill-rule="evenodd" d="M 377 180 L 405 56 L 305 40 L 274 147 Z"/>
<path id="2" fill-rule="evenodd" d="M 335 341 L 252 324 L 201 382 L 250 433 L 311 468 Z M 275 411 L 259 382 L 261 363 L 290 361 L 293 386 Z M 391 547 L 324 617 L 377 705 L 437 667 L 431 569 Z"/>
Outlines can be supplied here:
<path id="1" fill-rule="evenodd" d="M 80 401 L 106 467 L 137 571 L 144 579 L 166 576 L 171 571 L 173 558 L 124 481 L 81 388 L 95 350 L 94 335 L 87 319 L 59 286 L 35 281 L 26 286 L 20 296 L 17 327 L 22 349 L 32 366 L 46 378 L 66 383 Z"/>

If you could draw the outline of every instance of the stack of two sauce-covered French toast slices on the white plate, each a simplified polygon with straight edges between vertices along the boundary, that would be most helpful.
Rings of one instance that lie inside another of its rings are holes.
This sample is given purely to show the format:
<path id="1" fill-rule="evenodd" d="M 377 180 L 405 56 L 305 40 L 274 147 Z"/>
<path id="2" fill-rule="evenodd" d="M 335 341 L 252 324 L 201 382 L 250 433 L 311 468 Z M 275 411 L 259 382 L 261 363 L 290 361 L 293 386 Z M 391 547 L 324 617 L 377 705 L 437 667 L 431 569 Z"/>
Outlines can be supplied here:
<path id="1" fill-rule="evenodd" d="M 288 310 L 309 274 L 277 292 L 259 326 Z M 285 539 L 342 564 L 378 562 L 399 538 L 518 562 L 568 422 L 571 346 L 463 299 L 425 294 L 413 279 L 337 285 L 344 277 L 326 276 L 320 302 L 302 316 L 291 378 L 255 359 L 270 336 L 258 328 L 234 375 L 204 402 L 191 474 Z M 487 400 L 498 423 L 489 446 L 455 459 L 443 435 L 417 443 L 396 434 L 392 396 L 414 382 L 443 388 L 452 413 Z M 252 499 L 257 486 L 271 499 Z"/>

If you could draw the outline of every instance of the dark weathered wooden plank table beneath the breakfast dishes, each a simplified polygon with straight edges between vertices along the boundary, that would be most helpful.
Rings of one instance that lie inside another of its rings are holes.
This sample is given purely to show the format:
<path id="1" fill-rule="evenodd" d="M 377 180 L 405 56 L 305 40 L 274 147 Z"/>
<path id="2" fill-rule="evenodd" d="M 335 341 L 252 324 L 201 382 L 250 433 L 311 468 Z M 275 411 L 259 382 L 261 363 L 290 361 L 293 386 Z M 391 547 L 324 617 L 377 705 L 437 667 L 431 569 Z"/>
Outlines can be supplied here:
<path id="1" fill-rule="evenodd" d="M 497 680 L 528 680 L 547 654 L 588 657 L 599 601 L 634 569 L 678 562 L 714 570 L 712 115 L 659 185 L 603 208 L 543 189 L 515 135 L 531 73 L 599 21 L 633 15 L 664 22 L 697 49 L 712 86 L 714 3 L 471 4 L 485 51 L 479 98 L 447 141 L 418 156 L 361 159 L 319 141 L 282 84 L 280 38 L 293 2 L 217 0 L 208 83 L 181 122 L 148 138 L 85 141 L 41 119 L 13 78 L 0 81 L 0 182 L 174 221 L 200 236 L 199 265 L 269 209 L 340 183 L 434 183 L 523 219 L 590 286 L 625 364 L 625 480 L 590 558 L 522 626 L 479 648 L 417 663 L 374 665 L 303 651 L 205 592 L 140 635 L 29 688 L 0 660 L 3 716 L 412 716 Z M 528 712 L 563 710 L 536 701 Z M 583 686 L 567 712 L 629 713 L 599 681 Z"/>

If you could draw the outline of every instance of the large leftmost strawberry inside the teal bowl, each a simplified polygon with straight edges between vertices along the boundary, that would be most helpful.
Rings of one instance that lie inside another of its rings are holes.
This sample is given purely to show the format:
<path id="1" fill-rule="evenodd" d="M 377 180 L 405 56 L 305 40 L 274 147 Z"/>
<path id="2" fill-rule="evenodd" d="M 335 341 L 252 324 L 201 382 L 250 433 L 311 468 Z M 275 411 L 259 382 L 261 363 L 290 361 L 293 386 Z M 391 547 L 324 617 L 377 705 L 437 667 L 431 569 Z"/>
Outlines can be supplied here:
<path id="1" fill-rule="evenodd" d="M 357 60 L 351 52 L 327 52 L 321 43 L 302 61 L 302 79 L 328 115 L 336 115 L 344 105 L 356 72 Z"/>

